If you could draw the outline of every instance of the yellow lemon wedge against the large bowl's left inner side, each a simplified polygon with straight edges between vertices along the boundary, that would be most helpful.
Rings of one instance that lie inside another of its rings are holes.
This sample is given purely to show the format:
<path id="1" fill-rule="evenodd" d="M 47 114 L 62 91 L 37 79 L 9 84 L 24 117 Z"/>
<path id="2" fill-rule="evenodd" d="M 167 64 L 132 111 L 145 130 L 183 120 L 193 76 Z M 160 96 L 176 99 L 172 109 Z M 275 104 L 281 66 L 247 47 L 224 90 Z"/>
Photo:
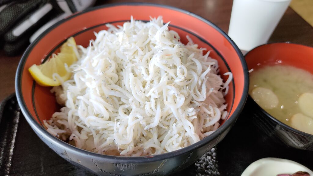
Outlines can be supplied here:
<path id="1" fill-rule="evenodd" d="M 69 80 L 72 73 L 65 65 L 70 66 L 77 61 L 77 46 L 73 37 L 69 38 L 48 61 L 41 65 L 32 65 L 28 71 L 33 79 L 42 86 L 58 86 Z"/>

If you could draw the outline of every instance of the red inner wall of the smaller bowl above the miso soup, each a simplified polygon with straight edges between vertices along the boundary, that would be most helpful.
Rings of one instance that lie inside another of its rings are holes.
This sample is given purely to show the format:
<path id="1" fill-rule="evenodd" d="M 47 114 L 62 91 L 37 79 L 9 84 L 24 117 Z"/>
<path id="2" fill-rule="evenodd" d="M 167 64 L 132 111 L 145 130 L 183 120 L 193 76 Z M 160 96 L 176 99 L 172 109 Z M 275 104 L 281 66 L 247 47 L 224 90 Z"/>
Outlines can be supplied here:
<path id="1" fill-rule="evenodd" d="M 273 43 L 264 44 L 249 51 L 245 55 L 249 73 L 262 68 L 265 65 L 290 65 L 313 74 L 313 48 L 290 43 Z M 251 98 L 252 99 L 252 98 Z M 261 108 L 259 106 L 259 108 Z M 261 108 L 262 109 L 262 108 Z M 265 112 L 265 111 L 264 111 Z M 292 131 L 300 132 L 288 125 L 277 120 L 275 117 L 266 113 L 272 119 L 275 119 L 280 125 L 292 129 Z M 301 132 L 303 133 L 303 132 Z M 309 135 L 309 134 L 307 134 Z M 311 136 L 311 135 L 310 135 Z"/>

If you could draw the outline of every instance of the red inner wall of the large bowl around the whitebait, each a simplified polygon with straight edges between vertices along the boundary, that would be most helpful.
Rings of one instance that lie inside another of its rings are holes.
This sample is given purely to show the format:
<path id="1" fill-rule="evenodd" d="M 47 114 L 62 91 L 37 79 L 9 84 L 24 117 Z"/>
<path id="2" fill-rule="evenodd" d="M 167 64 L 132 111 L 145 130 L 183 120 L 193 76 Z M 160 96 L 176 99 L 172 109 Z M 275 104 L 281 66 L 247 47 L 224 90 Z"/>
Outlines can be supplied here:
<path id="1" fill-rule="evenodd" d="M 33 81 L 28 73 L 31 65 L 40 64 L 49 58 L 70 36 L 74 36 L 77 44 L 86 47 L 90 39 L 95 39 L 94 32 L 107 29 L 106 23 L 122 25 L 131 15 L 134 19 L 143 21 L 148 21 L 149 16 L 162 15 L 164 23 L 171 21 L 169 28 L 181 36 L 183 43 L 187 43 L 186 35 L 189 35 L 199 47 L 211 50 L 210 56 L 218 60 L 222 78 L 227 80 L 228 76 L 223 75 L 225 72 L 233 73 L 233 81 L 226 96 L 228 119 L 234 113 L 239 113 L 241 109 L 235 110 L 239 105 L 243 106 L 248 81 L 245 63 L 238 54 L 238 48 L 229 42 L 225 33 L 200 17 L 174 8 L 147 4 L 113 5 L 75 14 L 54 25 L 34 41 L 24 53 L 17 72 L 16 87 L 22 101 L 22 109 L 28 111 L 29 115 L 42 125 L 43 120 L 49 119 L 60 108 L 54 94 L 50 93 L 51 87 L 42 87 Z"/>

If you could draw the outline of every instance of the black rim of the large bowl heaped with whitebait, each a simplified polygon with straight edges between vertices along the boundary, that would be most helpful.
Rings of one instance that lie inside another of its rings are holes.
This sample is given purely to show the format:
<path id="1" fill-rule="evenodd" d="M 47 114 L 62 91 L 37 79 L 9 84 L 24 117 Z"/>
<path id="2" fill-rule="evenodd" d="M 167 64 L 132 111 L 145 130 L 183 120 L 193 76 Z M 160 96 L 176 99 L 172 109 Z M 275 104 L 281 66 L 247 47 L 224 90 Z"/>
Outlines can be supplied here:
<path id="1" fill-rule="evenodd" d="M 24 68 L 24 64 L 25 64 L 25 60 L 28 56 L 28 52 L 30 52 L 32 50 L 32 48 L 38 43 L 38 41 L 40 39 L 42 39 L 46 34 L 48 34 L 52 29 L 56 28 L 58 25 L 60 25 L 61 23 L 64 23 L 66 21 L 68 21 L 71 18 L 74 18 L 76 16 L 79 15 L 83 15 L 84 13 L 90 12 L 90 11 L 94 11 L 94 10 L 98 10 L 98 9 L 102 9 L 102 8 L 107 8 L 107 7 L 113 7 L 113 6 L 122 6 L 122 5 L 128 5 L 128 6 L 154 6 L 154 7 L 161 7 L 161 8 L 167 8 L 167 9 L 172 9 L 181 13 L 185 13 L 187 15 L 190 15 L 194 18 L 198 18 L 199 20 L 207 23 L 209 26 L 213 27 L 215 30 L 217 30 L 220 34 L 223 35 L 223 37 L 225 37 L 229 43 L 233 46 L 233 48 L 235 49 L 236 53 L 239 56 L 239 59 L 241 61 L 241 65 L 243 68 L 243 72 L 244 72 L 244 89 L 243 89 L 243 93 L 241 95 L 239 104 L 237 106 L 237 108 L 235 108 L 235 111 L 233 112 L 233 114 L 231 116 L 229 116 L 228 120 L 226 122 L 224 122 L 224 124 L 219 127 L 215 132 L 213 132 L 210 136 L 205 137 L 204 139 L 200 140 L 199 142 L 196 142 L 190 146 L 187 146 L 185 148 L 179 149 L 179 150 L 175 150 L 172 152 L 167 152 L 167 153 L 163 153 L 163 154 L 159 154 L 159 155 L 152 155 L 152 156 L 143 156 L 143 157 L 124 157 L 124 156 L 110 156 L 110 155 L 104 155 L 104 154 L 99 154 L 99 153 L 94 153 L 94 152 L 90 152 L 84 149 L 80 149 L 77 148 L 75 146 L 72 146 L 56 137 L 54 137 L 53 135 L 51 135 L 49 132 L 46 131 L 46 129 L 44 129 L 43 127 L 41 127 L 38 122 L 36 122 L 35 118 L 30 114 L 30 112 L 28 111 L 27 107 L 25 106 L 25 102 L 22 96 L 22 91 L 21 91 L 21 82 L 20 80 L 22 79 L 22 71 Z M 218 28 L 215 24 L 213 24 L 212 22 L 208 21 L 207 19 L 204 19 L 194 13 L 188 12 L 186 10 L 182 10 L 180 8 L 176 8 L 176 7 L 172 7 L 172 6 L 168 6 L 168 5 L 161 5 L 161 4 L 154 4 L 154 3 L 112 3 L 112 4 L 108 4 L 108 5 L 101 5 L 101 6 L 96 6 L 93 8 L 89 8 L 85 11 L 82 11 L 80 13 L 75 13 L 71 16 L 69 16 L 68 18 L 65 18 L 57 23 L 55 23 L 54 25 L 52 25 L 50 28 L 48 28 L 47 30 L 45 30 L 35 41 L 33 41 L 28 48 L 26 49 L 26 51 L 24 52 L 21 61 L 19 62 L 18 65 L 18 69 L 16 72 L 16 76 L 15 76 L 15 91 L 16 91 L 16 96 L 17 96 L 17 100 L 18 100 L 18 104 L 21 107 L 21 110 L 23 112 L 23 114 L 25 115 L 26 120 L 28 121 L 28 123 L 31 125 L 31 127 L 33 128 L 33 130 L 36 133 L 40 133 L 40 135 L 45 136 L 47 139 L 49 139 L 49 142 L 54 142 L 55 145 L 58 145 L 60 148 L 62 149 L 66 149 L 69 151 L 72 151 L 73 153 L 77 153 L 80 156 L 84 156 L 86 158 L 98 158 L 99 160 L 106 160 L 106 161 L 110 161 L 110 162 L 154 162 L 154 161 L 160 161 L 160 160 L 165 160 L 167 158 L 173 158 L 177 155 L 182 155 L 184 153 L 193 151 L 199 147 L 202 147 L 204 145 L 207 145 L 210 141 L 212 141 L 215 138 L 219 138 L 220 134 L 222 134 L 223 132 L 225 132 L 228 127 L 231 127 L 231 125 L 233 123 L 236 122 L 236 119 L 238 118 L 239 114 L 241 113 L 241 111 L 244 108 L 244 104 L 247 100 L 248 97 L 248 90 L 249 90 L 249 73 L 248 73 L 248 67 L 247 64 L 244 60 L 244 56 L 241 53 L 240 49 L 238 48 L 238 46 L 233 42 L 233 40 L 220 28 Z M 218 141 L 218 140 L 217 140 Z M 52 143 L 51 143 L 52 144 Z M 215 144 L 214 144 L 215 145 Z"/>

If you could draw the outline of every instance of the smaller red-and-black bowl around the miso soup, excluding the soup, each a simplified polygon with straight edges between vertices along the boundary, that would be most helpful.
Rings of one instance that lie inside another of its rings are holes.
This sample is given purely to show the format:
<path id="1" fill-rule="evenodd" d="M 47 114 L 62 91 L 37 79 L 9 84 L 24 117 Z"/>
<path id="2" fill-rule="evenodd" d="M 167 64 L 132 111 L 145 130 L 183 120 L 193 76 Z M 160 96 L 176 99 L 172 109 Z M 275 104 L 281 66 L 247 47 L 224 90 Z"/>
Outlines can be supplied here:
<path id="1" fill-rule="evenodd" d="M 263 65 L 291 65 L 313 74 L 313 48 L 290 43 L 272 43 L 258 46 L 245 55 L 249 72 Z M 274 141 L 289 147 L 313 150 L 313 135 L 292 128 L 264 111 L 251 96 L 245 110 L 252 114 L 253 122 Z"/>

